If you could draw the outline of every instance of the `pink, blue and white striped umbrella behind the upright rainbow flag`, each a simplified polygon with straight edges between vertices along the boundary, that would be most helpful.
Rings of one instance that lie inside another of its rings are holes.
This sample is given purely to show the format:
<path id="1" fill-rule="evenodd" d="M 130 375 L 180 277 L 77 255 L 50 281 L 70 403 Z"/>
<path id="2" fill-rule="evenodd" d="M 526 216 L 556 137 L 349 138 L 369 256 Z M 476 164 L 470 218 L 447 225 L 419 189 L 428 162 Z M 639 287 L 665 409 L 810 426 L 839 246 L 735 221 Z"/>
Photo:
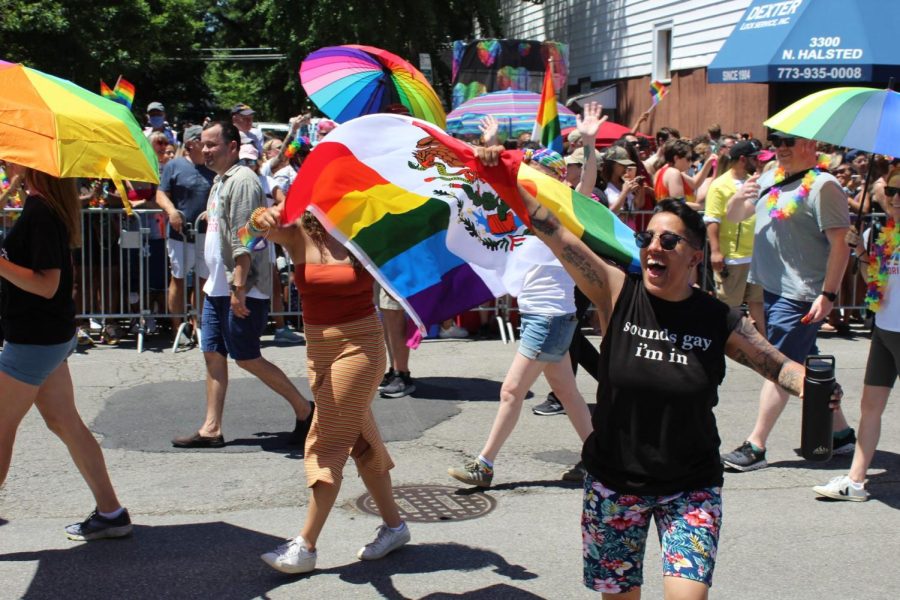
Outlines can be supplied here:
<path id="1" fill-rule="evenodd" d="M 467 100 L 447 115 L 447 132 L 454 135 L 478 134 L 478 125 L 487 115 L 497 119 L 502 137 L 515 137 L 520 133 L 531 133 L 537 119 L 541 95 L 526 90 L 504 90 L 491 92 Z M 556 103 L 559 126 L 575 125 L 575 113 L 560 103 Z"/>

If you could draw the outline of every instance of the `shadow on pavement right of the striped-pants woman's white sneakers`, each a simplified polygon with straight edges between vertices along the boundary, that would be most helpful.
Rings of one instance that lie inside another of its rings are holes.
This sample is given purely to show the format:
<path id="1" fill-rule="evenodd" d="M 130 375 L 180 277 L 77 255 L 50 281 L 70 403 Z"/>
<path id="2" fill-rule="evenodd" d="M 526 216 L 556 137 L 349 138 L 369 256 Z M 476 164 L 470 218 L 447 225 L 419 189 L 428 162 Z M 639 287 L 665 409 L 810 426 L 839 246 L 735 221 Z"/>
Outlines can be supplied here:
<path id="1" fill-rule="evenodd" d="M 505 558 L 482 548 L 463 544 L 412 544 L 405 546 L 379 561 L 360 561 L 349 565 L 324 569 L 321 573 L 337 574 L 341 581 L 353 585 L 372 585 L 382 597 L 388 600 L 407 600 L 394 586 L 393 575 L 437 573 L 440 571 L 470 572 L 493 567 L 493 572 L 513 581 L 535 579 L 523 566 L 511 565 Z M 496 592 L 491 594 L 491 592 Z M 530 592 L 505 584 L 496 584 L 462 594 L 436 593 L 425 596 L 430 600 L 439 598 L 539 598 Z"/>

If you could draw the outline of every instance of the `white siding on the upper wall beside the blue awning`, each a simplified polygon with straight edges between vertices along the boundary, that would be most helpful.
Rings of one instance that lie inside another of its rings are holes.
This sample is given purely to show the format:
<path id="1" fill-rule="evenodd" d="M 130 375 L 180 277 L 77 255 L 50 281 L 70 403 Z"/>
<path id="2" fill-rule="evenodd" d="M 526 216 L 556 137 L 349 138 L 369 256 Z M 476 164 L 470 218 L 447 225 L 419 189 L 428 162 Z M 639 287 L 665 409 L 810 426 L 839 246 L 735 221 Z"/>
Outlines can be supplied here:
<path id="1" fill-rule="evenodd" d="M 651 73 L 653 28 L 672 24 L 673 71 L 708 66 L 751 0 L 502 0 L 511 39 L 569 44 L 569 84 Z"/>

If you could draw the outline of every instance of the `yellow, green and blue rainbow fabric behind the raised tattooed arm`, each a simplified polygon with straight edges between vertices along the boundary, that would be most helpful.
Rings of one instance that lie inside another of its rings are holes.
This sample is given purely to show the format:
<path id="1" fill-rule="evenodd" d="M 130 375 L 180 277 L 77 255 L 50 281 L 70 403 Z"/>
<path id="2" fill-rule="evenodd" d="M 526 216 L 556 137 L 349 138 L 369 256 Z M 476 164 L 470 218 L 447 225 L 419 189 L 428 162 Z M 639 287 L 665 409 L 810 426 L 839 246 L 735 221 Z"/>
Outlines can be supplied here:
<path id="1" fill-rule="evenodd" d="M 634 231 L 611 210 L 525 164 L 519 167 L 518 180 L 528 193 L 595 254 L 612 260 L 627 271 L 636 273 L 641 270 Z"/>

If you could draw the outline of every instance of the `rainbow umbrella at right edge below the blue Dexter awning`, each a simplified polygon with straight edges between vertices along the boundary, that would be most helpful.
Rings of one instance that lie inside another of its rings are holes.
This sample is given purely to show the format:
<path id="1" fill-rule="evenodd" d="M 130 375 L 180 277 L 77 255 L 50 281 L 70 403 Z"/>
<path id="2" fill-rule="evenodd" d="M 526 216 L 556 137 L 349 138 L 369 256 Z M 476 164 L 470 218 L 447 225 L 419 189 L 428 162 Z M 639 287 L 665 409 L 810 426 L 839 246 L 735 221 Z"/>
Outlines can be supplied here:
<path id="1" fill-rule="evenodd" d="M 900 94 L 893 90 L 822 90 L 794 102 L 765 125 L 810 140 L 900 156 Z"/>

